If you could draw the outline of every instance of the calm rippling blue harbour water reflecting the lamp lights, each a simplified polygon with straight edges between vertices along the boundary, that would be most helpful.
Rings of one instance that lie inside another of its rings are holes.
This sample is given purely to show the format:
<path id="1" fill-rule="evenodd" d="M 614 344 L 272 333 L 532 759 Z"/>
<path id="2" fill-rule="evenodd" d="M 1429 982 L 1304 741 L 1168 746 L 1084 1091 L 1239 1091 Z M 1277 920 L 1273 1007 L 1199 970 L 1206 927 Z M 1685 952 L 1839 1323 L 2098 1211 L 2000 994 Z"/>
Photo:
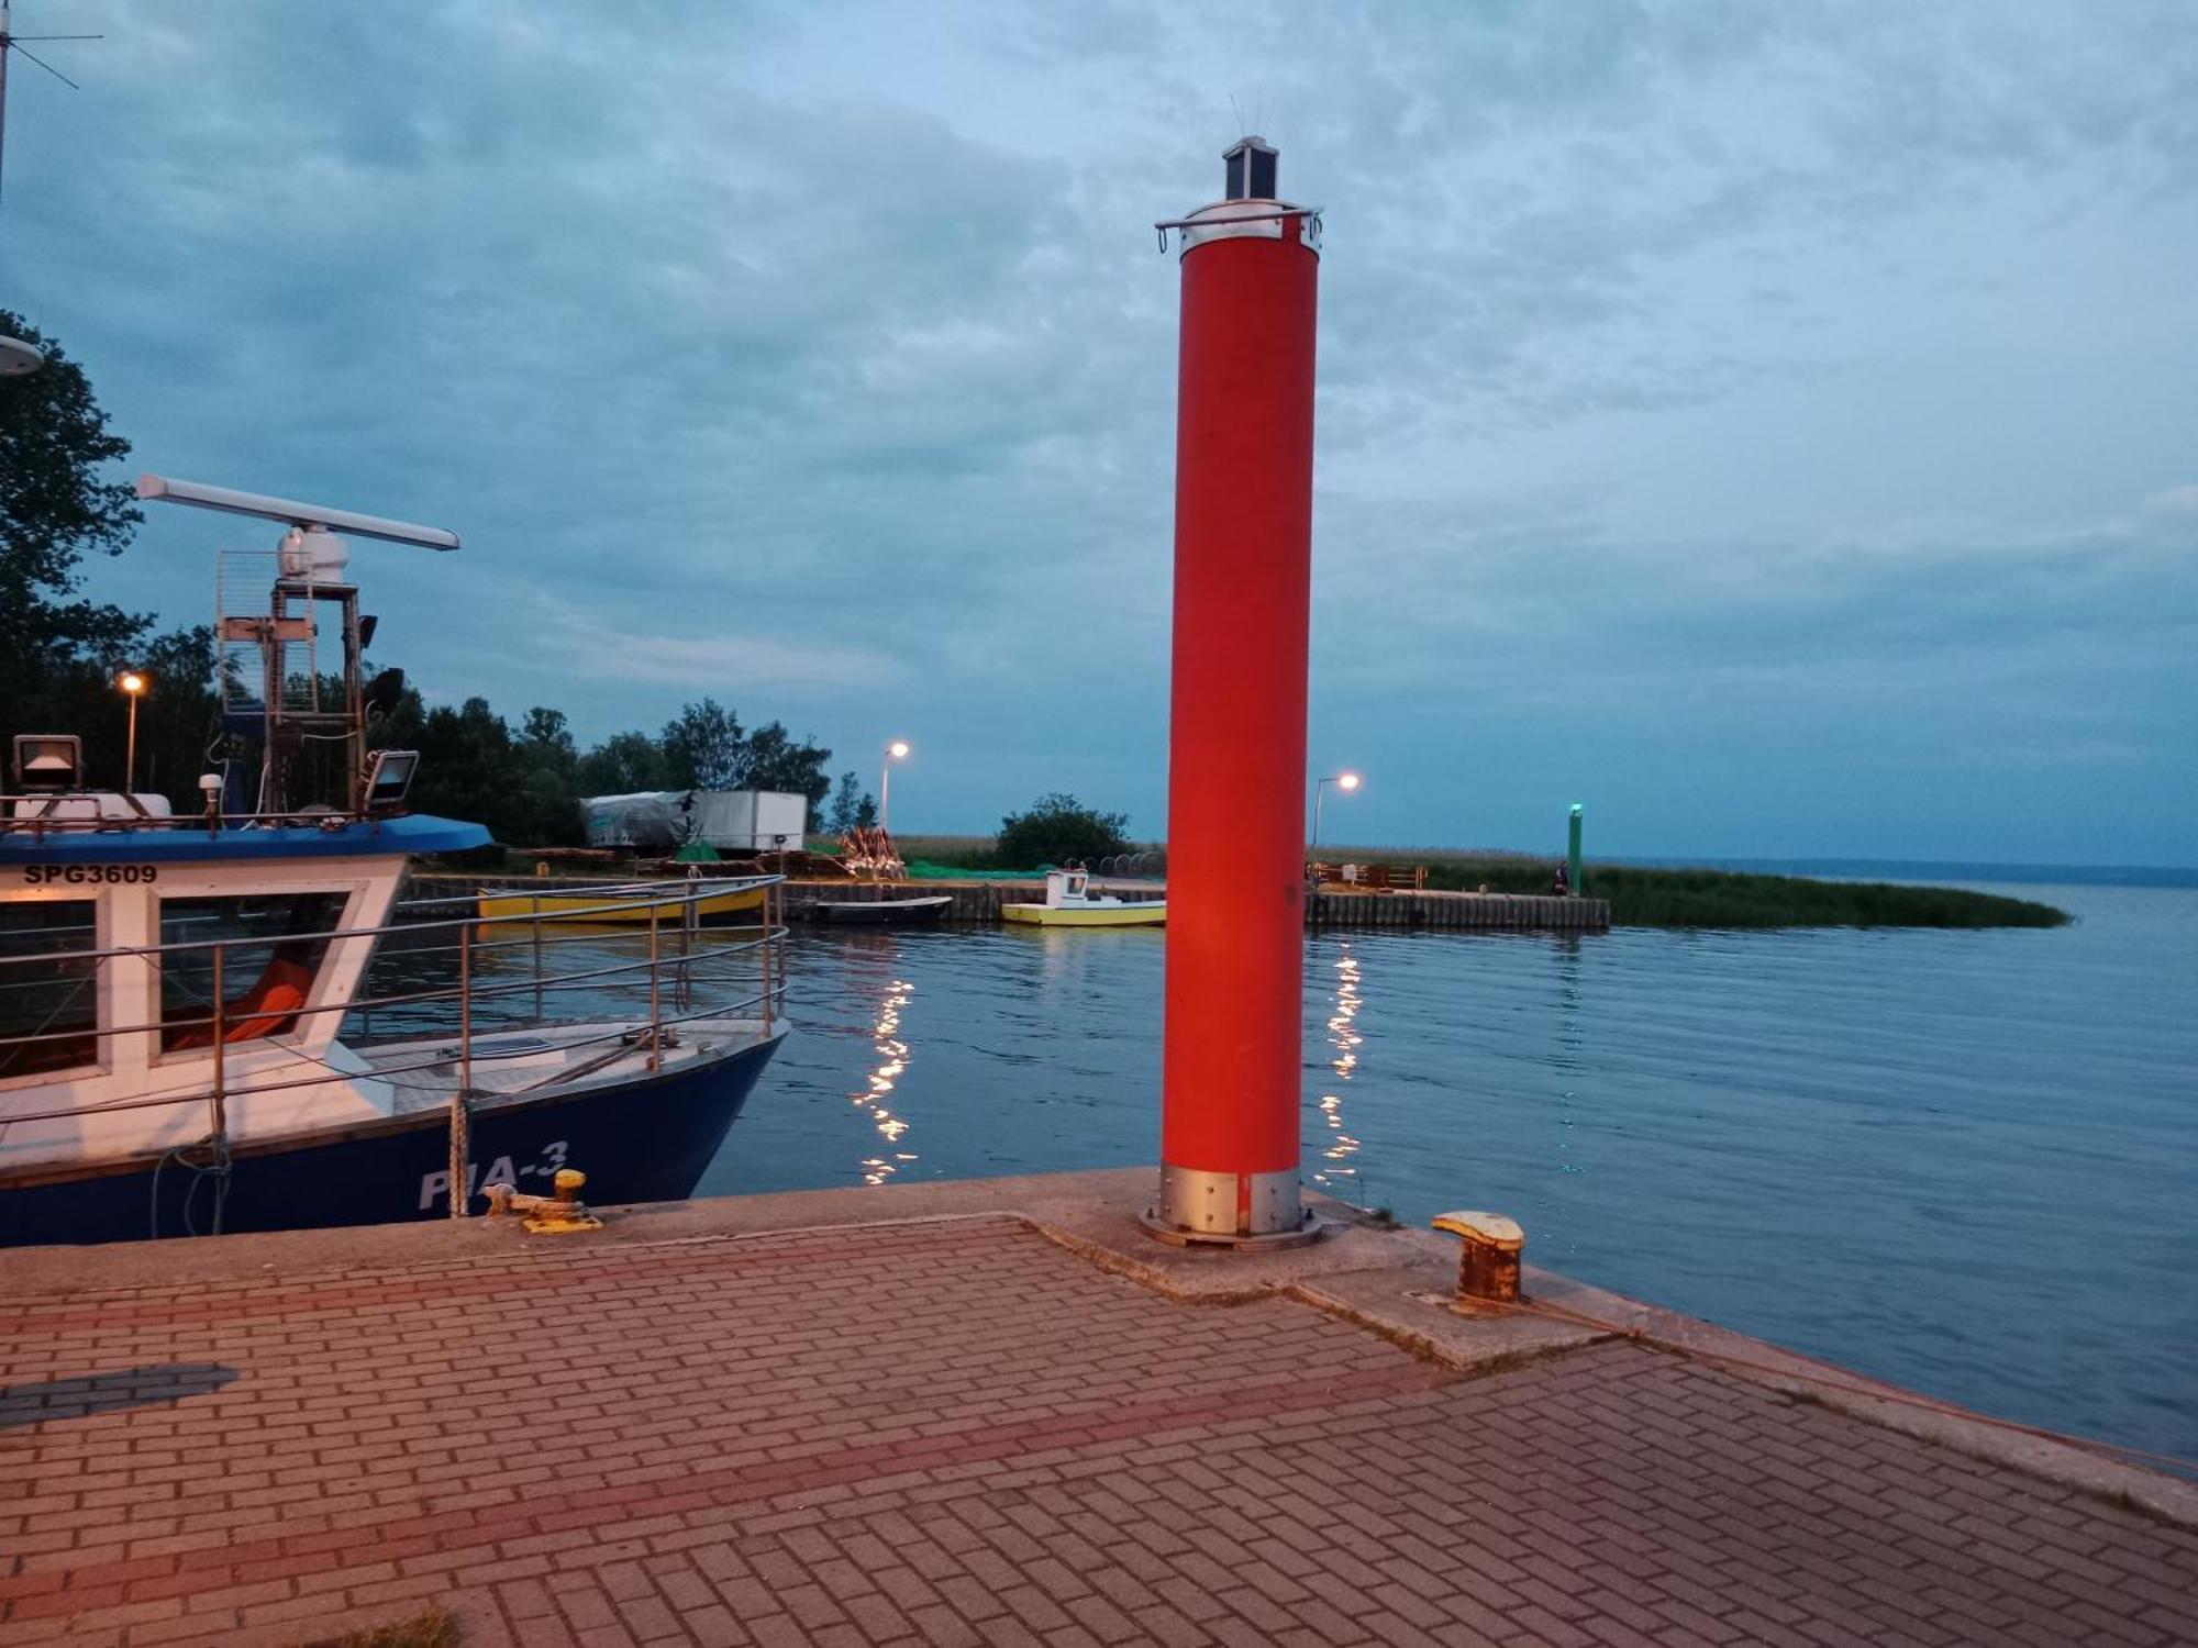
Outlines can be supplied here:
<path id="1" fill-rule="evenodd" d="M 1306 1173 L 2038 1424 L 2198 1457 L 2198 890 L 2057 932 L 1314 936 Z M 706 1193 L 1158 1156 L 1161 932 L 798 932 Z"/>

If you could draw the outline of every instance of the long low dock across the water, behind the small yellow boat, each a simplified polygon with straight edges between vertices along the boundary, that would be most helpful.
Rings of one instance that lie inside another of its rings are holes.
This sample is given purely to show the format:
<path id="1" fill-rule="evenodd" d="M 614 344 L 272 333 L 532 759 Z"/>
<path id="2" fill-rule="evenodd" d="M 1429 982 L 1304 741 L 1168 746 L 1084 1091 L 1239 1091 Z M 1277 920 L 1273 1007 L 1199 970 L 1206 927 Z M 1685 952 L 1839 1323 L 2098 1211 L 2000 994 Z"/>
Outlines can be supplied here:
<path id="1" fill-rule="evenodd" d="M 420 875 L 409 883 L 407 897 L 464 897 L 481 888 L 512 888 L 525 883 L 536 892 L 587 890 L 600 886 L 576 877 L 479 877 L 479 875 Z M 1167 888 L 1161 881 L 1106 881 L 1108 892 L 1125 899 L 1158 899 Z M 945 921 L 963 925 L 993 925 L 1002 921 L 1004 903 L 1044 901 L 1040 881 L 787 881 L 787 921 L 807 921 L 809 905 L 833 899 L 914 899 L 945 894 Z M 1314 892 L 1306 897 L 1306 927 L 1350 927 L 1380 932 L 1609 932 L 1609 899 L 1556 899 L 1523 892 Z"/>

